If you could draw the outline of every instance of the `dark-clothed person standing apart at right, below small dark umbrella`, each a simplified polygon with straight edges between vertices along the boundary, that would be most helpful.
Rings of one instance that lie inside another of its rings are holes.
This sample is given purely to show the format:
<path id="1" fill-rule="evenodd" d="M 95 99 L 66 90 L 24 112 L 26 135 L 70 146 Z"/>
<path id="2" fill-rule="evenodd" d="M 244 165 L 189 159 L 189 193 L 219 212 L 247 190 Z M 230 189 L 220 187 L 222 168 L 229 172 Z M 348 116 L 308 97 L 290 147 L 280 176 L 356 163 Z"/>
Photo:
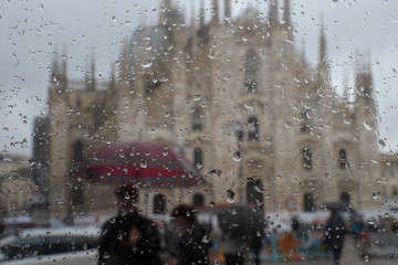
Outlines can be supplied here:
<path id="1" fill-rule="evenodd" d="M 331 216 L 325 226 L 324 244 L 332 253 L 335 265 L 338 265 L 341 262 L 346 234 L 347 229 L 343 218 L 338 214 L 336 209 L 332 209 Z"/>

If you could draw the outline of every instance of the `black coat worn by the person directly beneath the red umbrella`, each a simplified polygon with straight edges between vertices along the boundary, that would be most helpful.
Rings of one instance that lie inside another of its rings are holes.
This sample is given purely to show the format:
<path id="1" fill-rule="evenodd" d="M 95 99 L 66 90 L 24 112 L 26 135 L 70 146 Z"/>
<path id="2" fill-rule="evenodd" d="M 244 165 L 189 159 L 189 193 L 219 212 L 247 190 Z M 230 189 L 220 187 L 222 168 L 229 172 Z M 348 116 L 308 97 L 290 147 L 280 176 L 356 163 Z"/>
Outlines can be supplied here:
<path id="1" fill-rule="evenodd" d="M 139 231 L 140 240 L 136 246 L 126 246 L 122 242 L 128 241 L 133 225 Z M 104 224 L 98 264 L 159 265 L 159 250 L 160 236 L 156 223 L 135 211 L 113 218 Z"/>

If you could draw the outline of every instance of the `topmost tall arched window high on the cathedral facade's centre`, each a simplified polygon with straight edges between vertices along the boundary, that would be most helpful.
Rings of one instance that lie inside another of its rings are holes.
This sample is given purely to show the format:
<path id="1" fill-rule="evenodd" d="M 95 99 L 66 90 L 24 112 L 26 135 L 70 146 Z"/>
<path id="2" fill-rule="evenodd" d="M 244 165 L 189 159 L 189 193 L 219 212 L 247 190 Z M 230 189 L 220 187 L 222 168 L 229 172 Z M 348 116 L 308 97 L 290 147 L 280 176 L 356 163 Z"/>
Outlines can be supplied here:
<path id="1" fill-rule="evenodd" d="M 250 50 L 245 55 L 244 61 L 244 86 L 249 92 L 259 91 L 259 73 L 260 73 L 260 57 Z"/>

